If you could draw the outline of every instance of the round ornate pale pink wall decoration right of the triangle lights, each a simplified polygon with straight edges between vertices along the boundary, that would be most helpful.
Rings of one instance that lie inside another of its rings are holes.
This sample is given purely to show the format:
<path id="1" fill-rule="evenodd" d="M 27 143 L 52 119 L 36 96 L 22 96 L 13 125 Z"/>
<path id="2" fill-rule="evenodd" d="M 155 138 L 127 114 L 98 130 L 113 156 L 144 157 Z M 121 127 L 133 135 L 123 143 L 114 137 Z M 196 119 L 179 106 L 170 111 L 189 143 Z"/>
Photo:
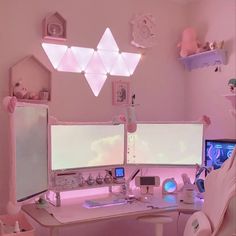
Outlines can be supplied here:
<path id="1" fill-rule="evenodd" d="M 131 44 L 140 48 L 150 48 L 157 43 L 157 27 L 153 15 L 135 15 L 131 24 L 133 36 Z"/>

